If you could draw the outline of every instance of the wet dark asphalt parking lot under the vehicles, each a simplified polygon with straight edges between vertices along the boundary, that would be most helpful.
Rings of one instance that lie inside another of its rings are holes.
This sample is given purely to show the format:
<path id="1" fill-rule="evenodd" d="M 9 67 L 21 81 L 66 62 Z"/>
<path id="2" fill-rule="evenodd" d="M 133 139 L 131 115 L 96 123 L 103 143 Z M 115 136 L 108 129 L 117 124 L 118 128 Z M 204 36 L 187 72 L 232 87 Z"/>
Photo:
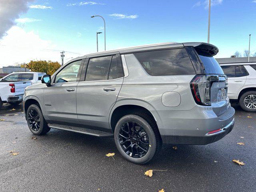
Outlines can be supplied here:
<path id="1" fill-rule="evenodd" d="M 233 106 L 235 126 L 222 140 L 177 145 L 177 150 L 163 145 L 156 159 L 136 165 L 121 157 L 112 138 L 52 129 L 33 140 L 22 105 L 12 110 L 5 104 L 0 110 L 0 191 L 255 192 L 256 114 Z M 106 156 L 112 152 L 114 158 Z M 150 169 L 167 171 L 153 171 L 149 178 L 144 172 Z"/>

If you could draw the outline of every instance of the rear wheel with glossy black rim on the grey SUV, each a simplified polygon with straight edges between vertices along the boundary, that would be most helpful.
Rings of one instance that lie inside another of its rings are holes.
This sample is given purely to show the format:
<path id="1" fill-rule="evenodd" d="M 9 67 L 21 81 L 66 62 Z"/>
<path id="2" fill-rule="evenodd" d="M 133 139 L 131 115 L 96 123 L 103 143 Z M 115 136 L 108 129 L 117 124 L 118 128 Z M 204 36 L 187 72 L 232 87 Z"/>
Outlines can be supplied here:
<path id="1" fill-rule="evenodd" d="M 136 164 L 149 162 L 162 146 L 156 123 L 146 114 L 129 114 L 120 118 L 115 127 L 114 139 L 120 154 Z"/>

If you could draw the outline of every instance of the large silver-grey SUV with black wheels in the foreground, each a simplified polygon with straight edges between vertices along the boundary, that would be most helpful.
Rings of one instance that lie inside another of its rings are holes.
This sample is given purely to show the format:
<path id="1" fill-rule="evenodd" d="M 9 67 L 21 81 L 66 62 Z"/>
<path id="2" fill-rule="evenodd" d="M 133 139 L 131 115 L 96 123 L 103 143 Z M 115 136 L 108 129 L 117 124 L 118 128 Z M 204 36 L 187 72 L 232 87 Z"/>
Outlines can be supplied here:
<path id="1" fill-rule="evenodd" d="M 144 164 L 162 143 L 204 145 L 234 126 L 227 79 L 211 44 L 164 43 L 88 54 L 26 88 L 31 132 L 50 128 L 114 137 Z"/>

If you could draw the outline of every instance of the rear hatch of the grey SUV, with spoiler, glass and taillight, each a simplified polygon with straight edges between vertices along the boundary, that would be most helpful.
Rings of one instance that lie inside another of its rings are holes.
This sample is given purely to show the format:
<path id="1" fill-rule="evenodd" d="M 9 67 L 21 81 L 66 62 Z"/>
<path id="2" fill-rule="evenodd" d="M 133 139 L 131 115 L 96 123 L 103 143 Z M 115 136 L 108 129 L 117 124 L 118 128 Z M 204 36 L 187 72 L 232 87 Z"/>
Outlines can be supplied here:
<path id="1" fill-rule="evenodd" d="M 194 50 L 199 56 L 202 73 L 190 82 L 192 94 L 194 93 L 198 104 L 211 106 L 214 113 L 220 117 L 228 112 L 229 99 L 227 77 L 213 57 L 218 53 L 218 48 L 202 43 L 194 46 Z"/>

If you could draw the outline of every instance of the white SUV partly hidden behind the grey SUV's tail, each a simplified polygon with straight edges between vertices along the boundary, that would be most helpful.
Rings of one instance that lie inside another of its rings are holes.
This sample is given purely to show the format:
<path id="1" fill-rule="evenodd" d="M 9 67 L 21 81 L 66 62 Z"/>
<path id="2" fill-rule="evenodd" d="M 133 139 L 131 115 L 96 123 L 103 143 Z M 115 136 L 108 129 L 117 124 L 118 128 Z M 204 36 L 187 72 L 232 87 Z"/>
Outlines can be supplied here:
<path id="1" fill-rule="evenodd" d="M 256 112 L 256 63 L 220 64 L 228 76 L 228 97 L 243 110 Z"/>

